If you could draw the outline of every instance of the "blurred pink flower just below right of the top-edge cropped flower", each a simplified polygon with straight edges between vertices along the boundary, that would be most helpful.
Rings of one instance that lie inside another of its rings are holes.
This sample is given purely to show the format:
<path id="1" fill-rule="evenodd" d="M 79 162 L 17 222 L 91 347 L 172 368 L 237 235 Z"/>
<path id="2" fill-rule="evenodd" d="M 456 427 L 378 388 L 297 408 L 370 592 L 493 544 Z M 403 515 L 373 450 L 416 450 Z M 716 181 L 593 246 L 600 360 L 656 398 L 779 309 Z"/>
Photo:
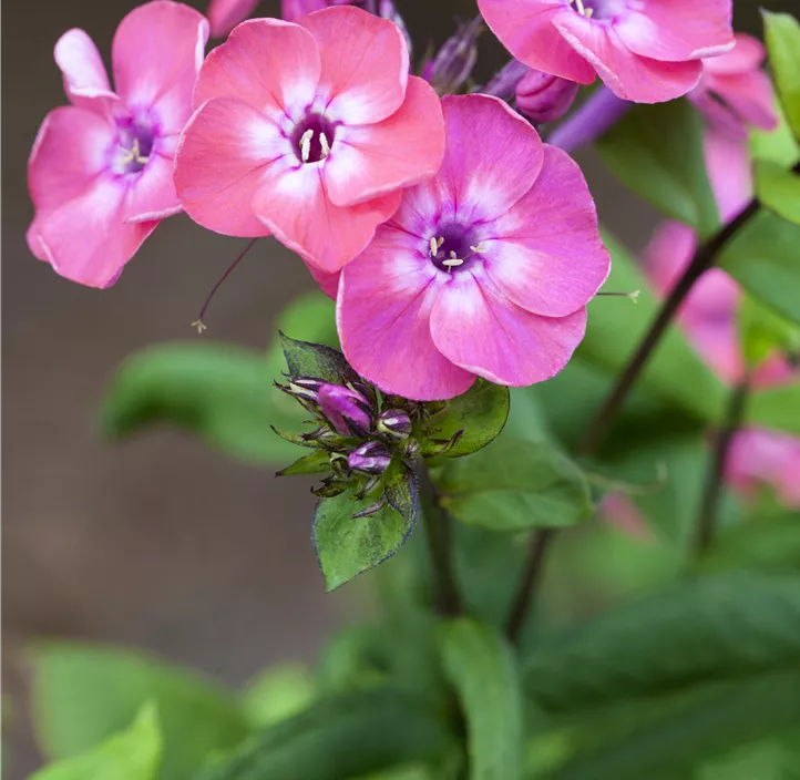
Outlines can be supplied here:
<path id="1" fill-rule="evenodd" d="M 778 126 L 772 83 L 761 70 L 766 57 L 760 41 L 737 33 L 734 49 L 702 61 L 700 83 L 688 98 L 714 127 L 743 138 L 749 126 Z"/>

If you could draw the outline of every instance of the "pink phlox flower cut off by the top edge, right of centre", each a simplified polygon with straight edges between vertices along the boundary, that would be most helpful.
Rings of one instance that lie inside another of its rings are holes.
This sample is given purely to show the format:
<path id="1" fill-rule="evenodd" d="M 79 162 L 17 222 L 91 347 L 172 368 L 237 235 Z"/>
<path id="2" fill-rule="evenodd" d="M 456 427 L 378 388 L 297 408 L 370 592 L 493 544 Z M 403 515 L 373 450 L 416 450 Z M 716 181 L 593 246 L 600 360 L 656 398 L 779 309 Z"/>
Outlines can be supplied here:
<path id="1" fill-rule="evenodd" d="M 732 0 L 479 0 L 489 27 L 526 65 L 618 98 L 658 103 L 734 47 Z"/>

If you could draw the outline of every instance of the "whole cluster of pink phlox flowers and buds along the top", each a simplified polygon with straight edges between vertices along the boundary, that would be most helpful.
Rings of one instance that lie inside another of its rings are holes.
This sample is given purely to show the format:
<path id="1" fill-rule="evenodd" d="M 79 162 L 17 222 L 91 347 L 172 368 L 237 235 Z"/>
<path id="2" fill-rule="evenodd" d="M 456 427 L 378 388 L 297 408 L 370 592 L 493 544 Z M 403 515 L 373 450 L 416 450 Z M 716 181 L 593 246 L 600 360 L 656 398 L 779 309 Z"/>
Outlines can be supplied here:
<path id="1" fill-rule="evenodd" d="M 732 49 L 730 4 L 481 0 L 418 78 L 390 0 L 284 0 L 283 20 L 213 0 L 211 31 L 233 32 L 205 59 L 206 19 L 155 0 L 117 30 L 115 92 L 84 32 L 57 44 L 72 105 L 31 154 L 31 250 L 107 287 L 184 211 L 296 252 L 337 301 L 347 359 L 384 393 L 542 381 L 581 342 L 609 257 L 581 171 L 531 122 L 563 116 L 598 73 L 626 100 L 694 90 L 766 125 L 762 52 Z M 447 95 L 471 89 L 484 21 L 519 61 L 489 94 Z"/>

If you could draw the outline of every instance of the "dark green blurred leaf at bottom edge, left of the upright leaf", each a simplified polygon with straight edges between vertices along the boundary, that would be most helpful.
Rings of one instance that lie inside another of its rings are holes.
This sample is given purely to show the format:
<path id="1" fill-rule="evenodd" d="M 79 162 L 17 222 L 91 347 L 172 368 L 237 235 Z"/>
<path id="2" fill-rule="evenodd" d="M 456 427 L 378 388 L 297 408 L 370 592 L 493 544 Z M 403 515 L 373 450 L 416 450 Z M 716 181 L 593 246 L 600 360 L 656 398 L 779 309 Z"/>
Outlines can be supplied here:
<path id="1" fill-rule="evenodd" d="M 198 780 L 348 780 L 434 758 L 450 745 L 430 699 L 375 688 L 318 701 L 263 731 Z"/>

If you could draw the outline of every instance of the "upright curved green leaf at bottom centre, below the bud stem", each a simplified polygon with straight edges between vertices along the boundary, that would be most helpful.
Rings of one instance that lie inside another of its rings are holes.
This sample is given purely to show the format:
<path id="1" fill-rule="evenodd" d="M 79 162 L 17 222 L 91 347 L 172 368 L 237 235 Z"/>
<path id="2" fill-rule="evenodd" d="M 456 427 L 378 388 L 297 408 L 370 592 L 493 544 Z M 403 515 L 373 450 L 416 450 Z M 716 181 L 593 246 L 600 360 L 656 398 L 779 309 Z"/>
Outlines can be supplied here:
<path id="1" fill-rule="evenodd" d="M 466 720 L 471 780 L 521 780 L 522 700 L 516 660 L 500 634 L 471 618 L 439 629 L 444 673 Z"/>

